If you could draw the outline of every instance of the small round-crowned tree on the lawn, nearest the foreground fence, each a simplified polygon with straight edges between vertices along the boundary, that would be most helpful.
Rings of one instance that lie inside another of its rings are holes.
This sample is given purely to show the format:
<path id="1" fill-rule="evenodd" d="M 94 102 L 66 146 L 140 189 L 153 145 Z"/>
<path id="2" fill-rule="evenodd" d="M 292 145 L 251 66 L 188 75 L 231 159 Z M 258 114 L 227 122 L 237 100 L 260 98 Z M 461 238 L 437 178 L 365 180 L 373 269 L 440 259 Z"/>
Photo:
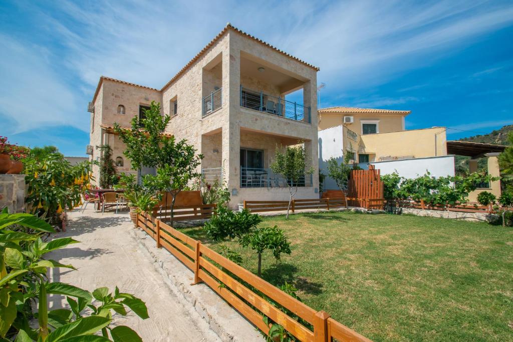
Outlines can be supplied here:
<path id="1" fill-rule="evenodd" d="M 250 247 L 258 253 L 258 276 L 262 275 L 262 253 L 270 250 L 272 255 L 278 260 L 282 253 L 290 254 L 290 243 L 288 242 L 283 230 L 274 227 L 263 227 L 252 230 L 245 234 L 240 243 L 243 247 Z"/>

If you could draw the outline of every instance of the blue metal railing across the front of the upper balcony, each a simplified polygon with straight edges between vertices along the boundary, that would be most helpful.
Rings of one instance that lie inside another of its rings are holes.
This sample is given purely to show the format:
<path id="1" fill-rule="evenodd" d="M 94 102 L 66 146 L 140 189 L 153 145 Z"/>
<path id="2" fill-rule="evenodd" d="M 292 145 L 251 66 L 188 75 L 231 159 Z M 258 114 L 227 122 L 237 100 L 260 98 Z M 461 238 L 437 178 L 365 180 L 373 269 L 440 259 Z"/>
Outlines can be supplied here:
<path id="1" fill-rule="evenodd" d="M 241 107 L 311 124 L 310 107 L 241 86 Z"/>

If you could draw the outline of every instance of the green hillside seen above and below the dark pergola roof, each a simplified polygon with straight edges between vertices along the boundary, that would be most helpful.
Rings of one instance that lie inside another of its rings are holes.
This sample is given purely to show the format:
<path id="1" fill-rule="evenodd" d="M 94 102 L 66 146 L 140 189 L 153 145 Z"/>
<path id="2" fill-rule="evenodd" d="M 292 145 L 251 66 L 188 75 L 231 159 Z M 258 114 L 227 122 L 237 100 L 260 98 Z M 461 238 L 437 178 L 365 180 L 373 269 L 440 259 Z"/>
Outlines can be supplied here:
<path id="1" fill-rule="evenodd" d="M 508 145 L 508 133 L 513 131 L 513 125 L 504 126 L 501 129 L 491 131 L 488 134 L 478 134 L 469 136 L 467 138 L 461 138 L 464 142 L 471 143 L 482 143 L 482 144 L 495 144 L 495 145 Z M 456 174 L 465 175 L 468 174 L 468 160 L 470 157 L 461 155 L 456 156 L 455 166 Z M 486 158 L 480 158 L 478 162 L 478 171 L 485 172 L 488 169 Z"/>

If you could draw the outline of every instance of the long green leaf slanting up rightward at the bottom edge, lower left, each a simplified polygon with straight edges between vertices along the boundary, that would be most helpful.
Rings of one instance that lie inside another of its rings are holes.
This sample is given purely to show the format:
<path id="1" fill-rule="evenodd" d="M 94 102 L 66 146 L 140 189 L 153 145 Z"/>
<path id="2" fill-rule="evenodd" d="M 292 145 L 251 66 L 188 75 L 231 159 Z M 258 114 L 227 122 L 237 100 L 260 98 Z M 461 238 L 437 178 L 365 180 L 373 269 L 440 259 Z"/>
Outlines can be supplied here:
<path id="1" fill-rule="evenodd" d="M 52 331 L 46 342 L 55 342 L 70 337 L 94 334 L 109 325 L 110 319 L 101 316 L 89 316 L 75 320 Z M 78 339 L 77 339 L 78 340 Z M 84 339 L 80 339 L 84 340 Z"/>

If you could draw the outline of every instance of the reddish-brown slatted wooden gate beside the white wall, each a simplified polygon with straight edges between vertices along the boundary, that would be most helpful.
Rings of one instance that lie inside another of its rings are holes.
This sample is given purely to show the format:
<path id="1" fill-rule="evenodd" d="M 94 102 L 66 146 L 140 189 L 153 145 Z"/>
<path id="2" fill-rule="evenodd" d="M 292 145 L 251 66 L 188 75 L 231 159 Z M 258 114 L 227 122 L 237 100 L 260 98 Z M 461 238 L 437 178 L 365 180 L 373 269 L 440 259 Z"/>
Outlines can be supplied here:
<path id="1" fill-rule="evenodd" d="M 383 209 L 383 182 L 380 170 L 369 165 L 368 170 L 352 170 L 348 181 L 347 197 L 351 199 L 350 206 L 367 209 Z"/>

